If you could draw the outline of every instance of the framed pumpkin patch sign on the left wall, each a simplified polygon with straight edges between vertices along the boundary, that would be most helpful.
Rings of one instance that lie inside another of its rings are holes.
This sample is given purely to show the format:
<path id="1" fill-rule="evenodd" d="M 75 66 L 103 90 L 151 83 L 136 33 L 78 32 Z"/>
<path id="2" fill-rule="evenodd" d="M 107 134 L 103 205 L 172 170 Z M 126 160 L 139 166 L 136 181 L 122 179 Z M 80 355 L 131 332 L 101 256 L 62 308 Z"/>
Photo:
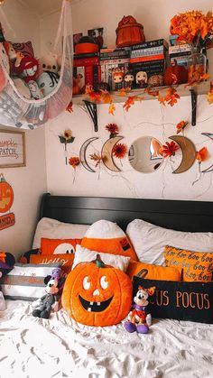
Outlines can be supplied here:
<path id="1" fill-rule="evenodd" d="M 25 165 L 25 134 L 0 130 L 0 168 L 24 167 Z"/>

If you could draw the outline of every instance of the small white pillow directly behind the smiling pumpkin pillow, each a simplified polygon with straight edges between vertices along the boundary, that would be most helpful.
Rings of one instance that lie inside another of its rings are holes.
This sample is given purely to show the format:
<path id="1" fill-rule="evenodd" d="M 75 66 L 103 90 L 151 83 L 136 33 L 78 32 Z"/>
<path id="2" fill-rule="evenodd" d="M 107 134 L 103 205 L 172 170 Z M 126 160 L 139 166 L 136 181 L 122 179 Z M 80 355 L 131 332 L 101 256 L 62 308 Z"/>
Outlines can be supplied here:
<path id="1" fill-rule="evenodd" d="M 103 261 L 103 263 L 106 263 L 106 265 L 112 265 L 114 266 L 114 268 L 120 269 L 120 271 L 123 272 L 125 272 L 128 268 L 130 257 L 121 256 L 118 254 L 103 254 L 97 251 L 91 251 L 90 249 L 84 248 L 80 244 L 77 244 L 72 269 L 78 263 L 91 262 L 93 260 L 96 260 L 97 254 L 100 255 L 101 260 Z"/>

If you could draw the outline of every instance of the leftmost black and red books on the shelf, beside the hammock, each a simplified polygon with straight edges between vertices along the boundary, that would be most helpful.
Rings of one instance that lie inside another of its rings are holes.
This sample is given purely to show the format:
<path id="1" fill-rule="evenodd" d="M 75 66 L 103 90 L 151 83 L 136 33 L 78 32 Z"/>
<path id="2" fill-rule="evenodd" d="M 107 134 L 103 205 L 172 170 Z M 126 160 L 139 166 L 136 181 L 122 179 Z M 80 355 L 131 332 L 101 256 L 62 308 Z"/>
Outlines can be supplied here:
<path id="1" fill-rule="evenodd" d="M 80 93 L 84 93 L 87 85 L 97 88 L 97 84 L 101 81 L 99 53 L 75 54 L 73 59 L 73 78 L 78 80 Z"/>

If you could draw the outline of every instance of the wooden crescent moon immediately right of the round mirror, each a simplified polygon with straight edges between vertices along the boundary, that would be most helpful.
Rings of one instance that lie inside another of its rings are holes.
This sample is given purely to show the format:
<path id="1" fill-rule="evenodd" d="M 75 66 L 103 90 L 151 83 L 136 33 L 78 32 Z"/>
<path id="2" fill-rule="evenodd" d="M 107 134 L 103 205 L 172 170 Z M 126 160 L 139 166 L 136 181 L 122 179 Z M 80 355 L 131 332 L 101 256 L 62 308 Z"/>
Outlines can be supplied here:
<path id="1" fill-rule="evenodd" d="M 190 139 L 181 135 L 172 135 L 169 137 L 172 141 L 178 143 L 182 152 L 180 166 L 172 173 L 182 173 L 190 169 L 196 158 L 196 149 Z"/>

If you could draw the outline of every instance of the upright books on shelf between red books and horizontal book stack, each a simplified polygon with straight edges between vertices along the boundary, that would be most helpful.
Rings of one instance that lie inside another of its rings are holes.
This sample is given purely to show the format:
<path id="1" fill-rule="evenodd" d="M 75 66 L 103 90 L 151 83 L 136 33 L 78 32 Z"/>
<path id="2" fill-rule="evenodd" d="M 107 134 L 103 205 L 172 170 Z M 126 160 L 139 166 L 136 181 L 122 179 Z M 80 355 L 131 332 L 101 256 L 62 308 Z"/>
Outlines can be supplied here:
<path id="1" fill-rule="evenodd" d="M 124 87 L 125 74 L 129 70 L 131 47 L 100 50 L 101 81 L 107 83 L 111 90 Z M 116 82 L 116 75 L 122 80 Z"/>

